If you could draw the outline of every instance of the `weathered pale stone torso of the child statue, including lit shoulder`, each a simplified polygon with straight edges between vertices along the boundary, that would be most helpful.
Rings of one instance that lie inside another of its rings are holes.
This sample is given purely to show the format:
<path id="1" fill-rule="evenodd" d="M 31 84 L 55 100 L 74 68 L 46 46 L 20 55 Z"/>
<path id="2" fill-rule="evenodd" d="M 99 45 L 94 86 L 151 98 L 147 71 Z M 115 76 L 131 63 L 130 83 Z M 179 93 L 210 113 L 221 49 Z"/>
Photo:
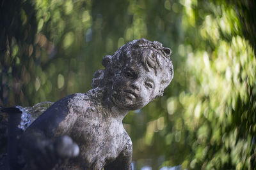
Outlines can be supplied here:
<path id="1" fill-rule="evenodd" d="M 125 146 L 131 145 L 122 120 L 111 117 L 111 113 L 91 97 L 76 94 L 68 104 L 67 117 L 56 131 L 56 135 L 67 134 L 79 145 L 79 157 L 70 160 L 66 168 L 102 169 L 115 160 Z M 72 128 L 65 128 L 69 121 Z"/>

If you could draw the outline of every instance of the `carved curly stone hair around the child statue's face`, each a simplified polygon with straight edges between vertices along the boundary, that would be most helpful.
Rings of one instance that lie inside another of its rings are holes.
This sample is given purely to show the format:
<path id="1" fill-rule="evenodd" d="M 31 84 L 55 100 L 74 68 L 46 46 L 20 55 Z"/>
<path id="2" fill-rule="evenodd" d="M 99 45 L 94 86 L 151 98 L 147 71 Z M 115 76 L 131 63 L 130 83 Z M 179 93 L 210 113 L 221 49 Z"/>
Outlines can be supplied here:
<path id="1" fill-rule="evenodd" d="M 155 74 L 163 71 L 162 88 L 158 96 L 163 95 L 163 90 L 173 78 L 173 65 L 170 59 L 172 51 L 165 48 L 158 41 L 136 39 L 121 46 L 113 55 L 106 55 L 102 59 L 105 69 L 99 69 L 93 75 L 92 87 L 106 87 L 112 85 L 112 79 L 120 68 L 127 66 L 132 59 L 140 60 L 147 71 L 151 67 Z"/>

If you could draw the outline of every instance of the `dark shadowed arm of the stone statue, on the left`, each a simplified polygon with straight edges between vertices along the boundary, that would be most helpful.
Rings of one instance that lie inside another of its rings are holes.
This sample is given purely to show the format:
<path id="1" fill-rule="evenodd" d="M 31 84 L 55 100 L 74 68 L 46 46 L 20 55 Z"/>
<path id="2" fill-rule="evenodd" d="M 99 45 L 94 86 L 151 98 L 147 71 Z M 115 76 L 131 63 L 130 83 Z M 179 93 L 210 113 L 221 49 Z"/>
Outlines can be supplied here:
<path id="1" fill-rule="evenodd" d="M 20 148 L 28 169 L 52 169 L 61 159 L 78 155 L 76 143 L 65 136 L 65 131 L 75 122 L 65 121 L 70 115 L 70 97 L 72 96 L 54 103 L 22 134 Z M 65 127 L 60 128 L 63 123 Z"/>

